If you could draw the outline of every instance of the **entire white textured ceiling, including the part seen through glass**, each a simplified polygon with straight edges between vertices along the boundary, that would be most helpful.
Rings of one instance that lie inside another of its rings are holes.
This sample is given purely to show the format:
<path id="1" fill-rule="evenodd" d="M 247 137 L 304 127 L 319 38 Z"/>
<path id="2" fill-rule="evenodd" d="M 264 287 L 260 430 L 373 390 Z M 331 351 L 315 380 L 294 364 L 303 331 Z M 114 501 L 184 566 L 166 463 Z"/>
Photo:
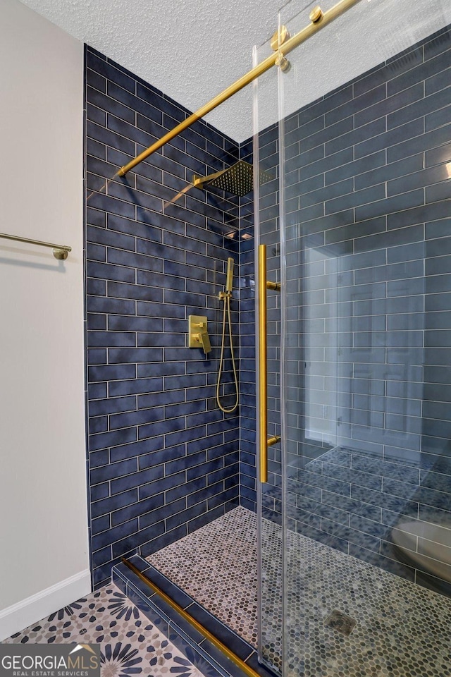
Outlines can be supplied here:
<path id="1" fill-rule="evenodd" d="M 252 68 L 252 46 L 271 37 L 283 5 L 283 0 L 22 1 L 192 111 Z M 306 25 L 309 8 L 317 1 L 293 0 L 284 8 L 283 20 L 292 32 Z M 335 1 L 322 0 L 321 6 L 326 10 Z M 301 18 L 288 22 L 300 11 Z M 287 79 L 293 94 L 285 112 L 451 23 L 451 1 L 362 0 L 346 17 L 351 13 L 352 20 L 341 17 L 299 48 L 298 74 Z M 267 53 L 261 49 L 259 60 Z M 277 115 L 277 94 L 268 86 L 275 76 L 264 78 L 268 95 L 260 106 L 262 125 Z M 238 142 L 249 138 L 252 87 L 206 120 Z"/>

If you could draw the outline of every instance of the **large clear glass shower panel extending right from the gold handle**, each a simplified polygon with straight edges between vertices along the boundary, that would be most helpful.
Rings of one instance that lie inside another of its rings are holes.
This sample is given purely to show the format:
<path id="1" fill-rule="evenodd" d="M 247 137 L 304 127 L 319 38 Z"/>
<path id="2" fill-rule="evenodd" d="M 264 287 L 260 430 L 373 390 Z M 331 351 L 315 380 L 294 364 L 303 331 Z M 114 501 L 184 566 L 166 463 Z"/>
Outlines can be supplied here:
<path id="1" fill-rule="evenodd" d="M 285 677 L 449 671 L 450 23 L 443 0 L 361 1 L 290 53 L 277 94 L 259 81 L 256 245 L 281 283 L 259 639 Z"/>

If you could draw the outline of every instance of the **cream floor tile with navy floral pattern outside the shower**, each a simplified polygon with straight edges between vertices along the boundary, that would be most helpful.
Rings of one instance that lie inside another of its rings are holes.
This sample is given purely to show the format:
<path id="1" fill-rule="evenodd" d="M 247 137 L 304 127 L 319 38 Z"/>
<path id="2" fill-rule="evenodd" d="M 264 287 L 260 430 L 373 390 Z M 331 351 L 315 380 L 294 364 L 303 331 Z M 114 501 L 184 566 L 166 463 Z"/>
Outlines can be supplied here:
<path id="1" fill-rule="evenodd" d="M 53 642 L 100 644 L 101 677 L 208 677 L 113 584 L 4 640 L 5 644 Z"/>

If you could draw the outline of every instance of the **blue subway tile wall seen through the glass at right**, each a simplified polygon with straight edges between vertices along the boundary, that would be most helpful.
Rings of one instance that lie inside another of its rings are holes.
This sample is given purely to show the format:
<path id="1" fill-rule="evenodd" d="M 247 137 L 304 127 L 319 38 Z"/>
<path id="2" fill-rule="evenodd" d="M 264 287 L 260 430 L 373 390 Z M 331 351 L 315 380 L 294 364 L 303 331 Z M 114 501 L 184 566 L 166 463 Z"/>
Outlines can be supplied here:
<path id="1" fill-rule="evenodd" d="M 427 535 L 401 563 L 393 527 L 451 525 L 450 63 L 445 28 L 291 115 L 283 137 L 288 525 L 445 592 Z M 276 171 L 276 127 L 259 157 Z M 277 190 L 259 204 L 271 279 Z M 279 322 L 268 293 L 269 434 Z M 262 501 L 279 520 L 270 453 Z M 448 550 L 435 559 L 451 575 Z"/>

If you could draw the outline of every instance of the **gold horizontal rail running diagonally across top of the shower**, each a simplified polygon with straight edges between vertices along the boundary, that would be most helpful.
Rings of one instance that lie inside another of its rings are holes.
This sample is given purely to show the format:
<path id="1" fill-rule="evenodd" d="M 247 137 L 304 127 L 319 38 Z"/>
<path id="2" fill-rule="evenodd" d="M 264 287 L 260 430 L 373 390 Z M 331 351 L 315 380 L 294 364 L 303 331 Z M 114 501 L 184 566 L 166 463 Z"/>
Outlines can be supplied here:
<path id="1" fill-rule="evenodd" d="M 278 51 L 276 51 L 274 54 L 271 54 L 271 56 L 267 56 L 264 61 L 261 61 L 261 63 L 252 68 L 251 71 L 245 75 L 242 75 L 242 77 L 236 80 L 233 85 L 229 85 L 229 87 L 223 90 L 221 94 L 217 94 L 214 99 L 211 99 L 208 104 L 204 104 L 202 108 L 199 108 L 183 122 L 180 122 L 180 124 L 162 136 L 161 139 L 152 144 L 152 146 L 149 146 L 147 150 L 144 150 L 142 153 L 137 155 L 135 159 L 130 160 L 128 164 L 125 164 L 123 167 L 121 167 L 121 169 L 118 170 L 118 176 L 125 176 L 125 174 L 130 171 L 130 169 L 133 169 L 135 166 L 137 166 L 137 164 L 140 164 L 140 162 L 149 157 L 149 155 L 152 155 L 152 153 L 154 153 L 156 150 L 159 150 L 169 141 L 173 140 L 173 138 L 185 131 L 185 129 L 194 125 L 194 123 L 200 120 L 200 118 L 203 118 L 206 116 L 206 114 L 217 108 L 217 106 L 220 106 L 226 102 L 227 99 L 233 97 L 233 94 L 240 92 L 240 90 L 252 83 L 253 80 L 259 78 L 260 75 L 263 75 L 266 73 L 266 71 L 269 71 L 270 68 L 276 65 L 281 56 L 290 54 L 290 51 L 296 49 L 296 47 L 299 47 L 299 44 L 305 42 L 307 39 L 309 39 L 309 37 L 321 30 L 321 28 L 324 28 L 326 25 L 328 25 L 328 23 L 338 18 L 338 16 L 345 13 L 352 6 L 357 5 L 357 3 L 360 1 L 361 0 L 340 0 L 340 2 L 338 2 L 336 5 L 324 12 L 319 20 L 311 21 L 309 25 L 307 25 L 302 30 L 299 30 L 296 35 L 293 35 L 293 37 L 290 37 L 288 40 L 286 40 L 286 42 L 281 44 Z"/>

